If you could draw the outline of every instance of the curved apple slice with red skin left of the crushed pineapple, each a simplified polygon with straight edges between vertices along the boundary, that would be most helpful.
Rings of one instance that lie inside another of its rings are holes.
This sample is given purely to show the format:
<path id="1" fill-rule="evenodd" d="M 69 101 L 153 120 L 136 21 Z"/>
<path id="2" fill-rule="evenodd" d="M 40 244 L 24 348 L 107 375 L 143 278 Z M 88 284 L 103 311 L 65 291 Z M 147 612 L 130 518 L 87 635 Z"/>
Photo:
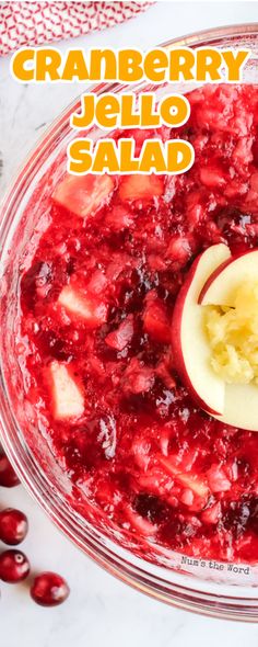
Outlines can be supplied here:
<path id="1" fill-rule="evenodd" d="M 172 319 L 175 366 L 192 398 L 207 412 L 224 411 L 225 383 L 210 365 L 210 347 L 203 333 L 203 308 L 198 296 L 209 276 L 228 259 L 226 245 L 209 247 L 192 263 L 178 294 Z"/>

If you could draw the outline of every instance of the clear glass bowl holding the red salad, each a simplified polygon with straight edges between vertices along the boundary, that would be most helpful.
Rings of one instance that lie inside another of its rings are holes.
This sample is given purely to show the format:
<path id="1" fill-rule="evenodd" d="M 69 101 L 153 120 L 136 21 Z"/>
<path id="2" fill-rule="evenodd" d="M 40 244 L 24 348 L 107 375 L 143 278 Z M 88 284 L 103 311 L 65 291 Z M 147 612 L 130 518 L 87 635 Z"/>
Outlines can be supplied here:
<path id="1" fill-rule="evenodd" d="M 166 43 L 175 46 L 249 47 L 258 54 L 258 23 L 220 27 Z M 251 56 L 245 67 L 244 82 L 258 82 L 258 68 Z M 192 83 L 153 86 L 138 83 L 133 89 L 155 91 L 157 99 L 171 92 L 187 92 Z M 91 91 L 119 93 L 126 87 L 99 83 Z M 97 522 L 92 511 L 85 520 L 80 506 L 74 508 L 74 488 L 63 474 L 38 428 L 33 411 L 24 406 L 22 366 L 13 351 L 15 315 L 17 313 L 17 279 L 24 246 L 35 245 L 39 236 L 38 213 L 48 217 L 47 195 L 63 174 L 66 148 L 75 136 L 69 117 L 79 109 L 74 101 L 48 128 L 23 164 L 1 207 L 1 350 L 0 350 L 0 434 L 22 483 L 51 520 L 96 563 L 136 589 L 181 609 L 207 615 L 241 621 L 258 621 L 258 566 L 221 565 L 212 560 L 195 560 L 179 553 L 161 555 L 154 564 L 122 545 L 116 529 L 107 530 L 105 520 Z M 103 133 L 91 128 L 94 140 Z M 49 172 L 50 169 L 50 172 Z M 40 183 L 40 184 L 39 184 Z M 33 196 L 33 206 L 32 201 Z M 38 208 L 40 205 L 40 208 Z M 42 220 L 40 220 L 42 224 Z M 23 263 L 26 259 L 23 257 Z M 8 296 L 8 299 L 7 299 Z M 26 433 L 24 432 L 26 430 Z M 124 543 L 125 544 L 125 543 Z M 133 548 L 133 546 L 131 545 Z"/>

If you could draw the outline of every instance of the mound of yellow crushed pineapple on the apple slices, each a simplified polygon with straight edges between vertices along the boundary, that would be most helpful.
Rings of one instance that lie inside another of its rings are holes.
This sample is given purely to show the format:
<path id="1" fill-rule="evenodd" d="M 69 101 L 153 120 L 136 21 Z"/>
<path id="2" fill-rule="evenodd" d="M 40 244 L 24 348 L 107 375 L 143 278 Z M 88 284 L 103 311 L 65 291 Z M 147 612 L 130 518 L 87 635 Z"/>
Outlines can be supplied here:
<path id="1" fill-rule="evenodd" d="M 211 365 L 227 384 L 258 384 L 258 282 L 245 282 L 234 307 L 207 306 Z"/>

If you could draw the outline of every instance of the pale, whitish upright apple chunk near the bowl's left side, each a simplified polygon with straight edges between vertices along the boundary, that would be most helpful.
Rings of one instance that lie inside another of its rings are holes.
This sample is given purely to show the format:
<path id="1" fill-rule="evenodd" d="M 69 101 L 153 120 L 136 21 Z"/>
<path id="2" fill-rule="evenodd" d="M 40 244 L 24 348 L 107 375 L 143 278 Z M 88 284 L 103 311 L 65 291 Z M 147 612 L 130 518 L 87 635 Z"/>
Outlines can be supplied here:
<path id="1" fill-rule="evenodd" d="M 70 370 L 59 362 L 51 362 L 47 370 L 54 417 L 57 420 L 79 418 L 84 411 L 84 398 Z"/>

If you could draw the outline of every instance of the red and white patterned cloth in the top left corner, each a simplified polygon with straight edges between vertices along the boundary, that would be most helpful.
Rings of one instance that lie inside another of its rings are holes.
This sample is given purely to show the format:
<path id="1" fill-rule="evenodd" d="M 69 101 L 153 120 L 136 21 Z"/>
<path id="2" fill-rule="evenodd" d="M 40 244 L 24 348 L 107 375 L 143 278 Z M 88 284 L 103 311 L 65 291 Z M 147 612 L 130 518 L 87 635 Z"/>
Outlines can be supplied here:
<path id="1" fill-rule="evenodd" d="M 153 2 L 2 2 L 0 56 L 117 25 Z"/>

